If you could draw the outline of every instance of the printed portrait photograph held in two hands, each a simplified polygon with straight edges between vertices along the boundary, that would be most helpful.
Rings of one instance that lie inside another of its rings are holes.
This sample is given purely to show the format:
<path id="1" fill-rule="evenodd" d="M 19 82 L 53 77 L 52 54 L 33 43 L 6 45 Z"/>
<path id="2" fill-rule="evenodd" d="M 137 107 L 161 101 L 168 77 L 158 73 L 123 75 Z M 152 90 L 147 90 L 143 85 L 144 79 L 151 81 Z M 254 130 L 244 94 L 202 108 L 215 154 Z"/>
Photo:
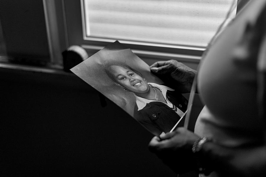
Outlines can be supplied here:
<path id="1" fill-rule="evenodd" d="M 169 132 L 187 100 L 150 72 L 150 66 L 118 41 L 71 69 L 120 106 L 153 135 Z M 178 126 L 183 126 L 184 121 Z"/>

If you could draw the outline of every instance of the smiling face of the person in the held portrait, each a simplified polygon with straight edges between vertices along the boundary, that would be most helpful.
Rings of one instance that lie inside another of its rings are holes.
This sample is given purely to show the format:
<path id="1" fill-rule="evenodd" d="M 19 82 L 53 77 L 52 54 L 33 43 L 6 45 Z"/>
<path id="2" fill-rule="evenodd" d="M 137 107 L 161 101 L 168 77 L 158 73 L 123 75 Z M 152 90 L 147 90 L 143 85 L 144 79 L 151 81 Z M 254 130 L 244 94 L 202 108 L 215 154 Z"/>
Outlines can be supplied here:
<path id="1" fill-rule="evenodd" d="M 134 93 L 147 93 L 150 91 L 148 83 L 134 71 L 117 65 L 112 65 L 111 70 L 117 83 L 124 89 Z"/>

